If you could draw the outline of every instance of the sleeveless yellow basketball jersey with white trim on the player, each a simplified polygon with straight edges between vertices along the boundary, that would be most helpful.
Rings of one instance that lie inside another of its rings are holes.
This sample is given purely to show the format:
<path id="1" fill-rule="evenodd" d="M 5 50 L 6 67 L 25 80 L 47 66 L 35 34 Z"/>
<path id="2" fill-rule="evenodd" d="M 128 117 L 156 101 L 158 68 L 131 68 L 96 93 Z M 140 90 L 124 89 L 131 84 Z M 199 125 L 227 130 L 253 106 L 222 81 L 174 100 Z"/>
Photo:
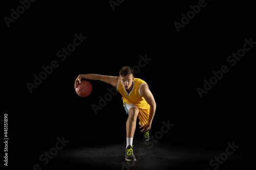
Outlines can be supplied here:
<path id="1" fill-rule="evenodd" d="M 122 86 L 122 83 L 118 81 L 117 91 L 123 96 L 123 98 L 126 100 L 126 103 L 134 104 L 140 109 L 149 109 L 150 105 L 140 95 L 140 88 L 143 84 L 147 83 L 141 79 L 134 78 L 132 90 L 130 93 L 127 93 L 127 91 Z"/>

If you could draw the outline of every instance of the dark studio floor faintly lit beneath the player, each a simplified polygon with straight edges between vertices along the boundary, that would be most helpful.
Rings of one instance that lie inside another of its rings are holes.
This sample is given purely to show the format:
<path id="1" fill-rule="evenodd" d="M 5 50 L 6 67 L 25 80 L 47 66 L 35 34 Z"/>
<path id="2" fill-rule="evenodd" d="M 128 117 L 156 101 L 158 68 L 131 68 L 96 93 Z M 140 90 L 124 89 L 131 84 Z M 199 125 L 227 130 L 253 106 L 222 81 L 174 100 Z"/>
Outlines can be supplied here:
<path id="1" fill-rule="evenodd" d="M 49 149 L 27 151 L 19 154 L 22 157 L 19 167 L 32 169 L 38 164 L 38 169 L 245 169 L 250 167 L 255 159 L 236 151 L 219 164 L 219 167 L 216 164 L 210 167 L 209 161 L 219 157 L 225 149 L 186 147 L 164 141 L 144 143 L 135 139 L 134 153 L 137 161 L 127 163 L 124 160 L 124 148 L 125 142 L 105 146 L 66 147 L 58 151 L 48 163 L 39 161 L 38 158 Z"/>

